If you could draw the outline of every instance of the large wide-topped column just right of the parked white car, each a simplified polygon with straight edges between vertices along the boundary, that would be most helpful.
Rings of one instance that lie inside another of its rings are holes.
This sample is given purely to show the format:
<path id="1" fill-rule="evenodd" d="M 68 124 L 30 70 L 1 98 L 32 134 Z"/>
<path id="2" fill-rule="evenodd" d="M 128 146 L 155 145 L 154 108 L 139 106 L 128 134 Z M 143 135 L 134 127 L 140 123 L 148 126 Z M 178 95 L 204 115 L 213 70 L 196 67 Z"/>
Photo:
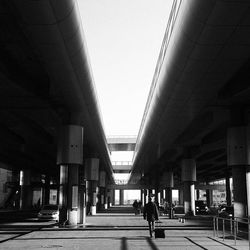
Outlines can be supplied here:
<path id="1" fill-rule="evenodd" d="M 83 127 L 63 126 L 58 136 L 57 164 L 60 166 L 60 222 L 78 222 L 79 166 L 83 164 Z"/>

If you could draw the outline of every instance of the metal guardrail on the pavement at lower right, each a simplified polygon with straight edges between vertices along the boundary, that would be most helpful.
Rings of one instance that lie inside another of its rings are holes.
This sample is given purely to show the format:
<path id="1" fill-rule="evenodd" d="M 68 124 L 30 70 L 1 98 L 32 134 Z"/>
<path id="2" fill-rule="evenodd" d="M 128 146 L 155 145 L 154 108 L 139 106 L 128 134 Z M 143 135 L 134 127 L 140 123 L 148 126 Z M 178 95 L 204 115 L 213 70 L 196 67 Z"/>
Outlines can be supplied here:
<path id="1" fill-rule="evenodd" d="M 222 237 L 223 241 L 227 236 L 232 236 L 235 245 L 238 239 L 248 239 L 250 249 L 250 217 L 223 218 L 214 216 L 213 231 L 214 237 Z M 219 236 L 220 231 L 222 232 L 221 236 Z"/>

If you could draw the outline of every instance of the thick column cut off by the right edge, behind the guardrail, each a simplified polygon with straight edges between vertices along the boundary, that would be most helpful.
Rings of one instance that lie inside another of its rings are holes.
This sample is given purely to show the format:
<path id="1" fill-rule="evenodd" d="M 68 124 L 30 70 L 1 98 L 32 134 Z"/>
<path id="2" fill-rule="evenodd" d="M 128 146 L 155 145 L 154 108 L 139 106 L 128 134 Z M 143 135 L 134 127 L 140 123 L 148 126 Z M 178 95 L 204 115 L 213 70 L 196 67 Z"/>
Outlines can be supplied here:
<path id="1" fill-rule="evenodd" d="M 228 165 L 232 167 L 234 216 L 246 217 L 248 179 L 247 169 L 250 165 L 249 139 L 250 127 L 231 127 L 227 131 Z"/>

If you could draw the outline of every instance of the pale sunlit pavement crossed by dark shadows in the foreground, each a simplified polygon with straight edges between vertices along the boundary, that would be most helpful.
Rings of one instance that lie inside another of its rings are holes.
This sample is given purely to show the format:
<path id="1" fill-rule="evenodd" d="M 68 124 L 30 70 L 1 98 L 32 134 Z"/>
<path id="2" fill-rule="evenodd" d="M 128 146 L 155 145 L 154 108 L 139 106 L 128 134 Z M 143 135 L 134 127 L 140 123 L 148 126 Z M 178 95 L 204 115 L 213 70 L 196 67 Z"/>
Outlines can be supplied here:
<path id="1" fill-rule="evenodd" d="M 207 220 L 160 218 L 166 238 L 150 238 L 146 221 L 132 214 L 98 214 L 87 217 L 85 227 L 58 228 L 53 222 L 11 222 L 0 224 L 0 249 L 72 250 L 179 250 L 249 249 L 248 241 L 222 241 L 213 237 Z"/>

